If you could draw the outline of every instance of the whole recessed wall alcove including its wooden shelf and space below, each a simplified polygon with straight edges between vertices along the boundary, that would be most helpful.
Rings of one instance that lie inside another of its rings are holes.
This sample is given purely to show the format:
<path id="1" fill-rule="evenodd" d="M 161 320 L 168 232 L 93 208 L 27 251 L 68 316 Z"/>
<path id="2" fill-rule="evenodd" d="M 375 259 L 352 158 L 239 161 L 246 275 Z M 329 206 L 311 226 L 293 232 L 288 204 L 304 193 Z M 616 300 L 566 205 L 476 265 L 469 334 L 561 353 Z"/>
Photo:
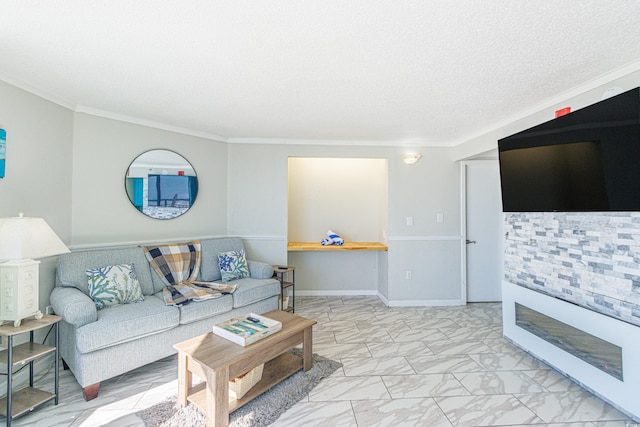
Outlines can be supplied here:
<path id="1" fill-rule="evenodd" d="M 290 157 L 288 263 L 301 295 L 377 295 L 386 283 L 388 160 Z M 343 246 L 322 246 L 327 231 Z M 305 243 L 304 249 L 293 245 Z"/>

